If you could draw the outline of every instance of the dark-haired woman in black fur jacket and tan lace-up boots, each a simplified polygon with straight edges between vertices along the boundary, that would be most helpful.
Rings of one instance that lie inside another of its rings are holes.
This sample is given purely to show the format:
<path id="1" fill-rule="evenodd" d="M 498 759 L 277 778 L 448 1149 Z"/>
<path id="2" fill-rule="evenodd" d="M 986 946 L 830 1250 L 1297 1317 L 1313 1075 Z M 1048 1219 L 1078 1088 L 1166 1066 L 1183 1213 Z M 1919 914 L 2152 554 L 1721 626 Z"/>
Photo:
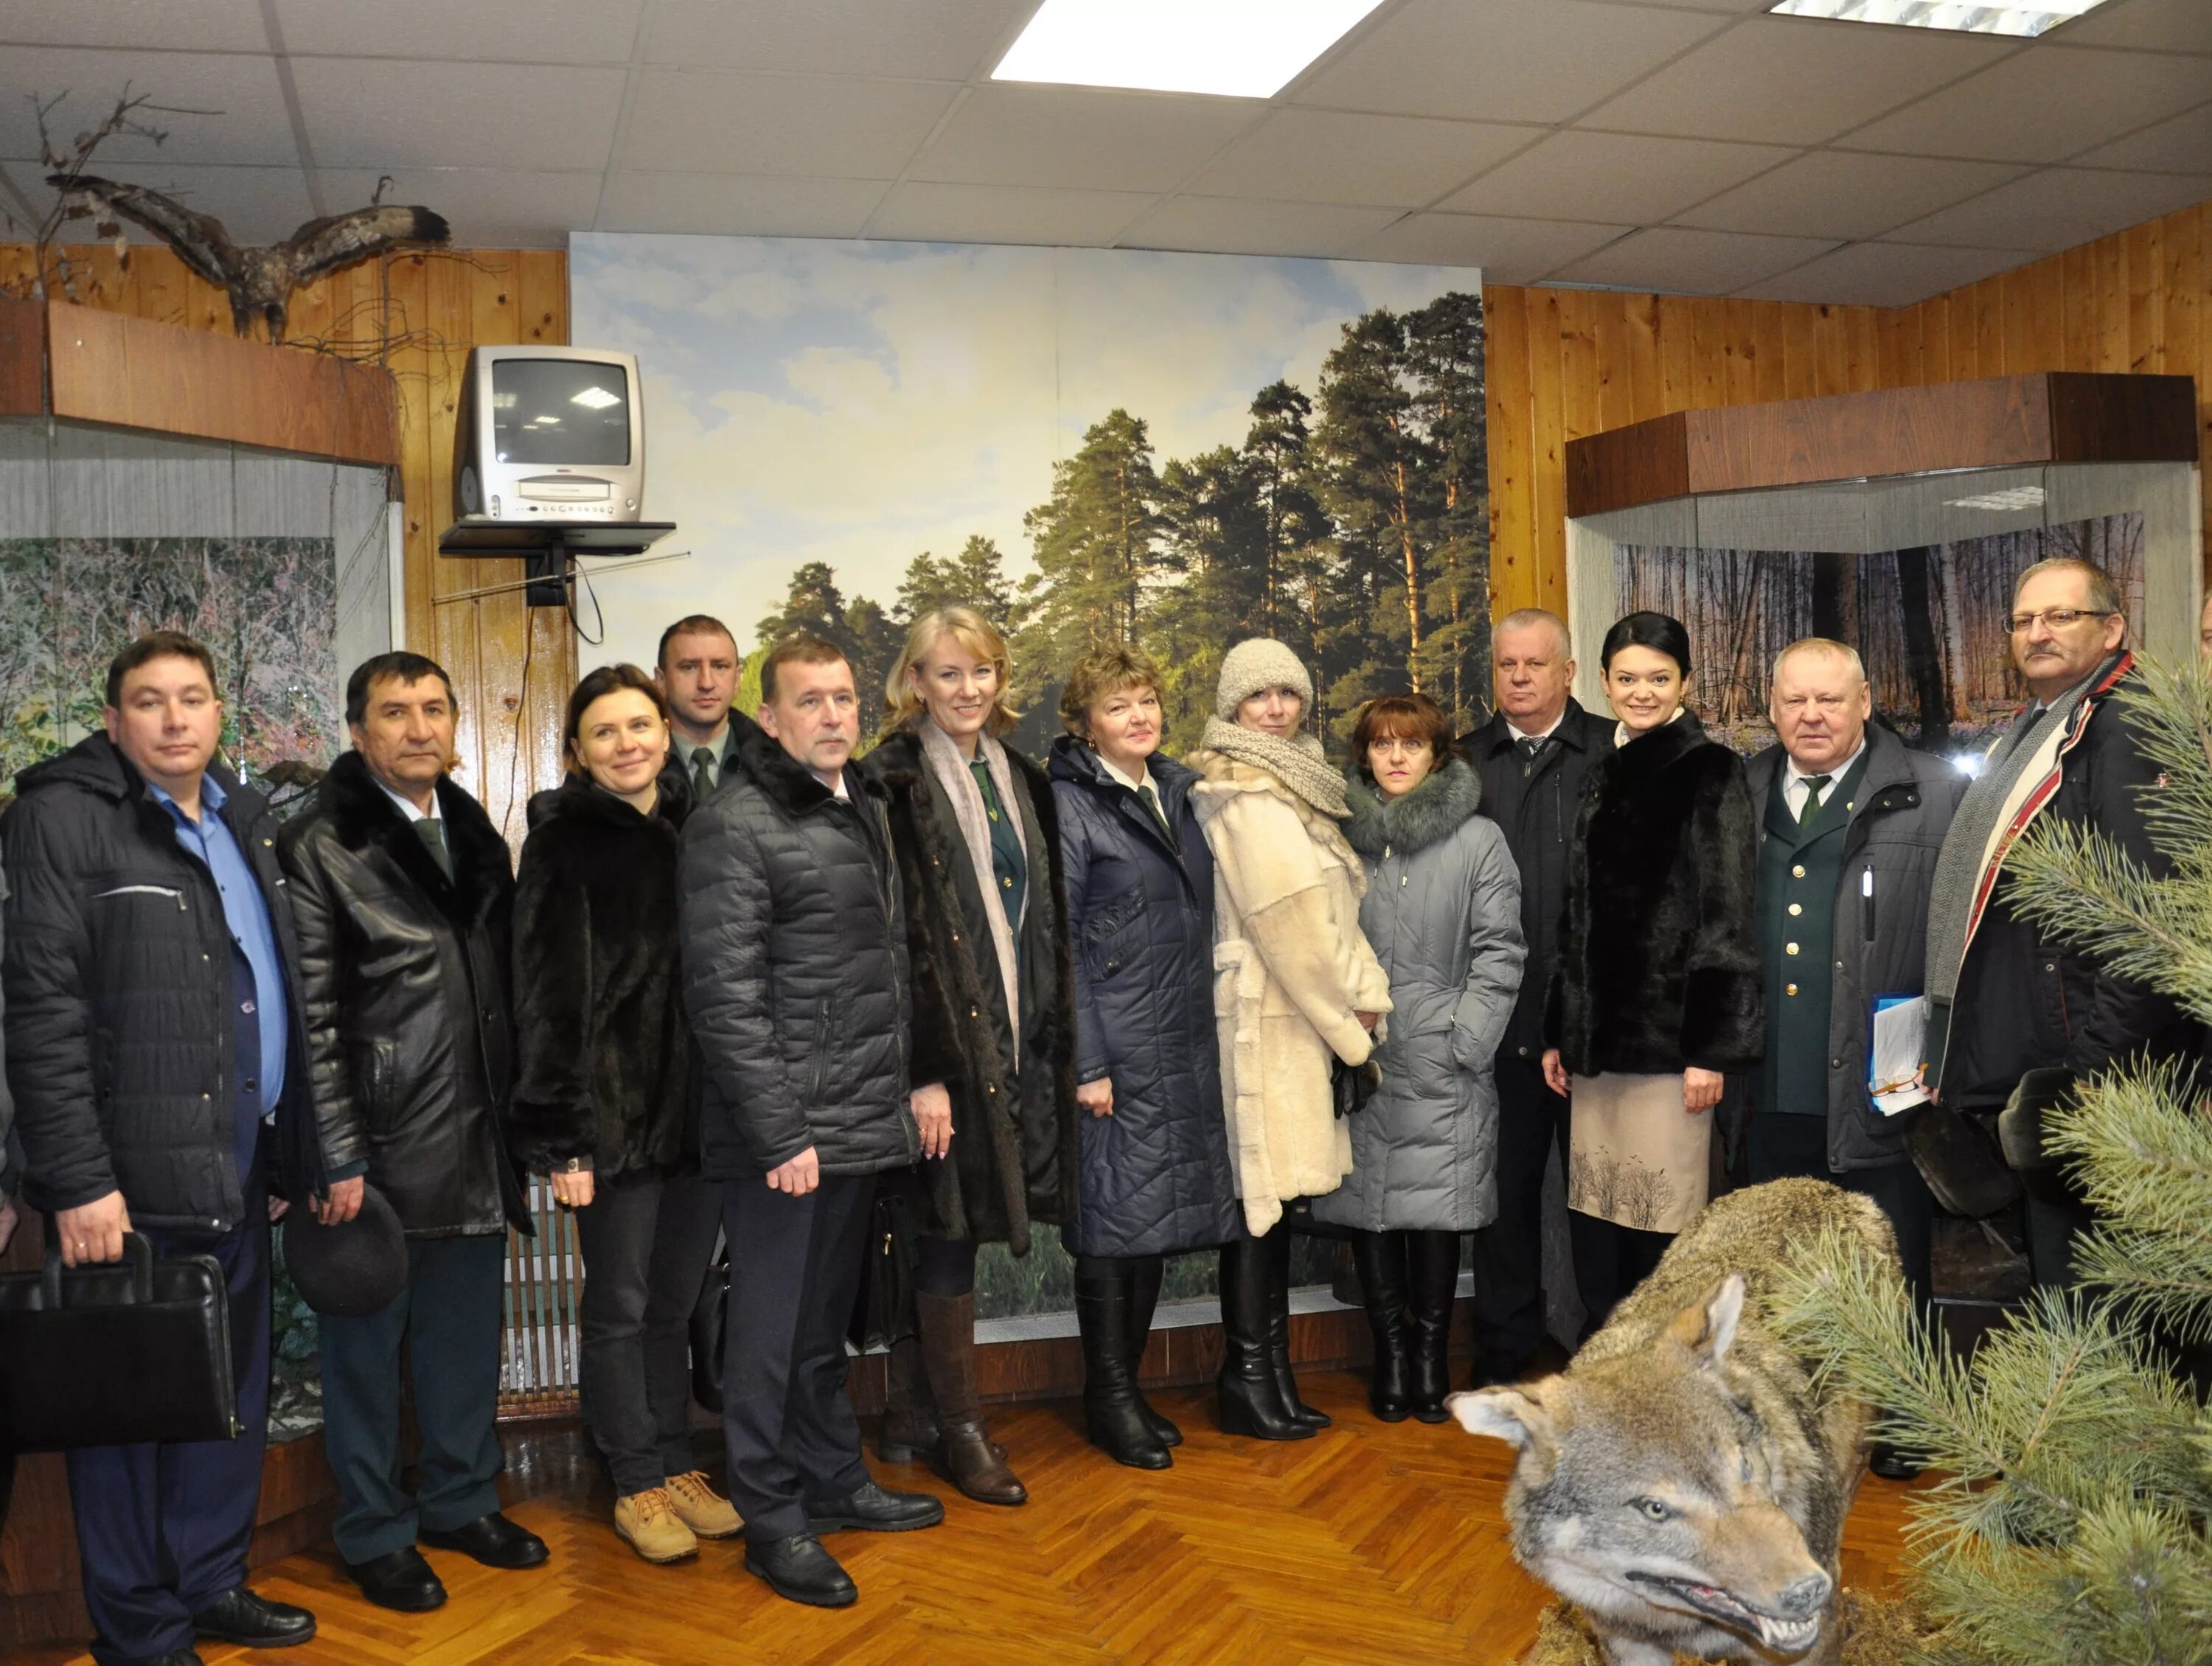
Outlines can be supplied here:
<path id="1" fill-rule="evenodd" d="M 741 1529 L 690 1451 L 690 1314 L 721 1221 L 677 956 L 668 706 L 637 666 L 568 697 L 568 779 L 522 845 L 509 1144 L 584 1252 L 582 1381 L 615 1531 L 648 1562 Z"/>

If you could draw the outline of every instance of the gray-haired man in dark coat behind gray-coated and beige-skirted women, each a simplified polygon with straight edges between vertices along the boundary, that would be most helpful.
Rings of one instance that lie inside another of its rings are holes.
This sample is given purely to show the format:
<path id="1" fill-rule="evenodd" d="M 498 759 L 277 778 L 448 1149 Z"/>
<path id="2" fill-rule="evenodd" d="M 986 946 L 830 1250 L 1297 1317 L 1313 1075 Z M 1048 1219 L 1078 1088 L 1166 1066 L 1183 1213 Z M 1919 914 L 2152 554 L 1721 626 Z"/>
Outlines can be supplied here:
<path id="1" fill-rule="evenodd" d="M 1526 1374 L 1544 1341 L 1544 1164 L 1566 1166 L 1566 1100 L 1544 1084 L 1544 989 L 1559 960 L 1566 845 L 1590 763 L 1613 750 L 1613 721 L 1568 695 L 1566 619 L 1509 613 L 1491 631 L 1495 712 L 1460 750 L 1482 779 L 1482 810 L 1506 834 L 1522 876 L 1528 965 L 1498 1044 L 1498 1219 L 1475 1232 L 1473 1387 Z"/>

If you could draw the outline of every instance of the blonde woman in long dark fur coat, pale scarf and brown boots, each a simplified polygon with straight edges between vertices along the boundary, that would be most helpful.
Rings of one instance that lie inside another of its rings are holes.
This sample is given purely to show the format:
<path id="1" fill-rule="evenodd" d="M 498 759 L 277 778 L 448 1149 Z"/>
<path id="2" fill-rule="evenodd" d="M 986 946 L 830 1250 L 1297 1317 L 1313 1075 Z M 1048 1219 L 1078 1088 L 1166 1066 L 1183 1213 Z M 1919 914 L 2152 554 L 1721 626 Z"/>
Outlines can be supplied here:
<path id="1" fill-rule="evenodd" d="M 876 1451 L 927 1454 L 984 1504 L 1029 1498 L 975 1392 L 975 1248 L 1029 1252 L 1075 1212 L 1075 973 L 1060 814 L 1044 770 L 1000 743 L 1006 639 L 973 608 L 914 622 L 860 763 L 889 796 L 914 960 L 914 1115 L 927 1201 L 920 1336 L 891 1350 Z"/>

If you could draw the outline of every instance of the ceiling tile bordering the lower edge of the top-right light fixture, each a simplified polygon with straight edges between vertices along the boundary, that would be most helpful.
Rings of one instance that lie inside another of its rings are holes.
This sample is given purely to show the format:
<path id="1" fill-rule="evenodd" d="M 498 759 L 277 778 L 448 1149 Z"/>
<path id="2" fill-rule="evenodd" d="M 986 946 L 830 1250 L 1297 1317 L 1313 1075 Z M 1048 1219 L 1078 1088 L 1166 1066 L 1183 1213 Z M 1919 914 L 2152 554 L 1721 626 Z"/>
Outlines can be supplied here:
<path id="1" fill-rule="evenodd" d="M 2004 51 L 1931 29 L 1750 18 L 1599 106 L 1584 126 L 1820 144 Z"/>

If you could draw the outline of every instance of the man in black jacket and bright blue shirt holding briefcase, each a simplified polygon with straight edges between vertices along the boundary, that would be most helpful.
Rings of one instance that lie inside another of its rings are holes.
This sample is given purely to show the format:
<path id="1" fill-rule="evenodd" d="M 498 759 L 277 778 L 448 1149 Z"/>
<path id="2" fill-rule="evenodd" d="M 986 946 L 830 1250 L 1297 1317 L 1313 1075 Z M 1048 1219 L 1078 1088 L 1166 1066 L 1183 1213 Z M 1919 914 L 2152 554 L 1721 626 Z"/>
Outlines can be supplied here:
<path id="1" fill-rule="evenodd" d="M 321 1184 L 299 947 L 261 796 L 215 763 L 215 662 L 175 631 L 108 668 L 106 732 L 15 777 L 7 1073 L 27 1199 L 64 1266 L 210 1254 L 230 1290 L 239 1436 L 69 1454 L 93 1659 L 192 1666 L 314 1615 L 246 1589 L 268 1438 L 272 1197 Z"/>

